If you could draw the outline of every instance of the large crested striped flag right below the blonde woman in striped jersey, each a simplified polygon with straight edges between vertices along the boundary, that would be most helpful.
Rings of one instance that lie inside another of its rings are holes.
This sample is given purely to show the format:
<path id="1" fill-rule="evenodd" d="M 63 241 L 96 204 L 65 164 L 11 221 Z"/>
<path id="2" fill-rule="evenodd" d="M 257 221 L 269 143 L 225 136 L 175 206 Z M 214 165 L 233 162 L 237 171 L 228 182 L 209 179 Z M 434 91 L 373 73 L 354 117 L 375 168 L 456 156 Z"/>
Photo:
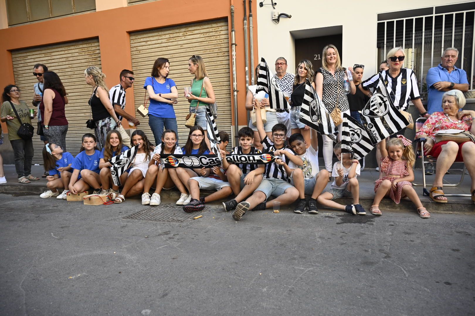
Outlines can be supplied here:
<path id="1" fill-rule="evenodd" d="M 374 144 L 409 125 L 409 121 L 392 102 L 381 74 L 378 88 L 361 111 L 361 121 L 370 132 Z"/>

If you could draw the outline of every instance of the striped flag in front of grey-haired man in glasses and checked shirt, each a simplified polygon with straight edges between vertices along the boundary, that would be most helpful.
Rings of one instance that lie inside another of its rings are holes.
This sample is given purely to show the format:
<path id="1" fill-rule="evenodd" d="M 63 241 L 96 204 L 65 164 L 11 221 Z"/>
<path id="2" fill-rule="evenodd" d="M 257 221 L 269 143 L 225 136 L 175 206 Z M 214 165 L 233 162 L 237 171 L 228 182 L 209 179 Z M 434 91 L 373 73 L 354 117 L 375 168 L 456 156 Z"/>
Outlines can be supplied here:
<path id="1" fill-rule="evenodd" d="M 262 57 L 259 63 L 256 93 L 259 91 L 265 91 L 269 95 L 269 105 L 271 108 L 290 108 L 289 102 L 285 99 L 284 93 L 280 90 L 279 84 L 276 82 L 272 72 L 270 72 L 266 60 Z"/>

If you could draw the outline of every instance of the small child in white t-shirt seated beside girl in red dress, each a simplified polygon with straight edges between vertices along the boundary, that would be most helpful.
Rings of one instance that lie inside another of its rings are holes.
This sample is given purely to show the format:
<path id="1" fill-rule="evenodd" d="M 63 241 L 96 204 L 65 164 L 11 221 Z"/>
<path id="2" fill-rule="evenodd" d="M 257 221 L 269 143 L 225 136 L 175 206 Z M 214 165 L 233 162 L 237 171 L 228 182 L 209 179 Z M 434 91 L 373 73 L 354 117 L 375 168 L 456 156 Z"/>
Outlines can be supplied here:
<path id="1" fill-rule="evenodd" d="M 317 201 L 323 206 L 344 210 L 352 215 L 365 215 L 366 211 L 360 204 L 360 185 L 356 179 L 360 175 L 360 162 L 357 159 L 350 159 L 350 154 L 345 153 L 342 157 L 342 143 L 338 142 L 333 148 L 333 152 L 338 157 L 338 162 L 333 164 L 332 176 L 335 180 L 332 188 L 321 194 Z M 342 205 L 334 202 L 342 197 L 353 197 L 353 204 Z"/>

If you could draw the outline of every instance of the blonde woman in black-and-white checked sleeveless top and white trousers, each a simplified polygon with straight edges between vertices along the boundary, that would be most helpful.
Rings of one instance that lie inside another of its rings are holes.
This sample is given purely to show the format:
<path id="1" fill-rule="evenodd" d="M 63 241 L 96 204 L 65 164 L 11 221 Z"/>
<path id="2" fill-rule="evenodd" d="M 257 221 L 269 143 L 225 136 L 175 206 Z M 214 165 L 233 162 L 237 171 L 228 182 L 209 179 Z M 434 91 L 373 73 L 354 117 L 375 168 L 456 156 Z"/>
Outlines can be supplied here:
<path id="1" fill-rule="evenodd" d="M 350 105 L 346 97 L 343 81 L 346 69 L 342 67 L 340 54 L 335 45 L 326 45 L 323 47 L 322 67 L 317 70 L 315 75 L 315 86 L 318 96 L 322 99 L 328 113 L 332 113 L 335 108 L 339 108 L 341 116 L 343 113 L 350 115 Z M 352 67 L 348 67 L 353 72 Z M 356 93 L 356 87 L 353 81 L 350 81 L 350 93 Z M 338 138 L 342 133 L 342 124 L 338 126 Z M 333 165 L 333 140 L 322 135 L 323 138 L 323 160 L 325 161 L 325 169 L 332 172 Z"/>

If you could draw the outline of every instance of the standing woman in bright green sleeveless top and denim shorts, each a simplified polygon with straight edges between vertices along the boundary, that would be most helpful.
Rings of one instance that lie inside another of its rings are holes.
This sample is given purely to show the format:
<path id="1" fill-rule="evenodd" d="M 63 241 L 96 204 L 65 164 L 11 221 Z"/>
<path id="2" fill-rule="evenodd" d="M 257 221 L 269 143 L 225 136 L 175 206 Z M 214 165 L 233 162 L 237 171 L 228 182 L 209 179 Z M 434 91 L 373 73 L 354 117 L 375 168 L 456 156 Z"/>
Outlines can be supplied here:
<path id="1" fill-rule="evenodd" d="M 205 63 L 201 56 L 191 56 L 188 60 L 188 70 L 191 74 L 195 75 L 195 78 L 190 82 L 191 93 L 185 93 L 185 98 L 190 102 L 190 113 L 196 112 L 197 114 L 195 125 L 199 125 L 204 129 L 206 145 L 210 149 L 211 147 L 206 132 L 206 106 L 216 102 L 213 86 L 211 85 L 211 81 L 209 81 Z"/>

